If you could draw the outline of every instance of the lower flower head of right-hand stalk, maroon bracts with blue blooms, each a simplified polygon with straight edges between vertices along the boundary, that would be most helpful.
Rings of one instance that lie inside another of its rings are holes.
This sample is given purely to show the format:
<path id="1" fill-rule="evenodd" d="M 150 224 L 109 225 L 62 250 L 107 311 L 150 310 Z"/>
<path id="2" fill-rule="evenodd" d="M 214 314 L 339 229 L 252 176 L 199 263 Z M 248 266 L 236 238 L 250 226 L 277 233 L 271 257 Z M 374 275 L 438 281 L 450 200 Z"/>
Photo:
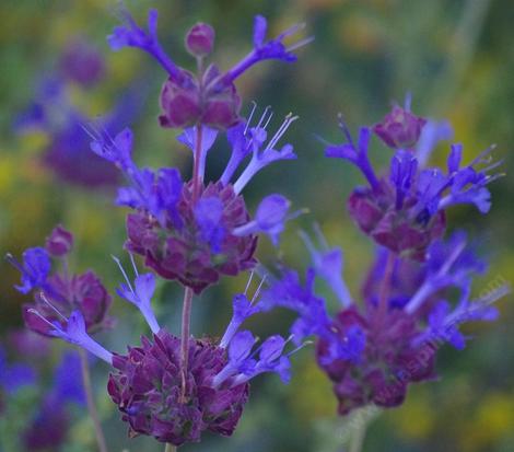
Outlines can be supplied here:
<path id="1" fill-rule="evenodd" d="M 306 243 L 313 246 L 308 239 Z M 312 256 L 318 270 L 307 271 L 305 286 L 285 269 L 264 292 L 262 302 L 266 309 L 283 306 L 296 312 L 291 332 L 316 337 L 316 359 L 334 383 L 340 415 L 367 404 L 401 404 L 409 384 L 435 378 L 435 358 L 445 343 L 464 347 L 460 325 L 495 320 L 492 303 L 509 292 L 505 286 L 470 298 L 471 276 L 483 271 L 484 265 L 466 250 L 465 236 L 456 234 L 447 243 L 433 243 L 422 264 L 382 248 L 363 287 L 365 303 L 343 304 L 329 315 L 311 278 L 327 279 L 330 274 L 316 251 Z M 329 286 L 339 297 L 339 286 Z M 449 287 L 459 292 L 455 305 L 448 301 Z"/>

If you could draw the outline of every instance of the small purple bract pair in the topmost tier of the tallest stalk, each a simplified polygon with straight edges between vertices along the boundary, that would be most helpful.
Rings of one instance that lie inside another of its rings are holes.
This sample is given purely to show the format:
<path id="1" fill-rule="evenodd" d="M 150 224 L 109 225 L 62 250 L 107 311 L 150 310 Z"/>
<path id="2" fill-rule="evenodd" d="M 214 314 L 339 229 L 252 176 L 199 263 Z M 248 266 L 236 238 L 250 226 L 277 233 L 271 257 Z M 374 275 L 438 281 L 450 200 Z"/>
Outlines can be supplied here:
<path id="1" fill-rule="evenodd" d="M 241 98 L 233 83 L 213 83 L 219 76 L 211 65 L 200 81 L 186 70 L 178 80 L 170 77 L 161 91 L 161 126 L 187 128 L 202 124 L 224 130 L 237 124 Z"/>

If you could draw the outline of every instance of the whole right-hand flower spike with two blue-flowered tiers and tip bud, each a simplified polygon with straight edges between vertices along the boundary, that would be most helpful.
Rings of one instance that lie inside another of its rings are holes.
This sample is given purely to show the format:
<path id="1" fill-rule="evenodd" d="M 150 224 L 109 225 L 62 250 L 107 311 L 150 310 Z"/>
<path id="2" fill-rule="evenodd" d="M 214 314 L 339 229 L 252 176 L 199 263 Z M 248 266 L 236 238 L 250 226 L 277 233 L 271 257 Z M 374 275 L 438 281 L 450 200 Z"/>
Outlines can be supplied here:
<path id="1" fill-rule="evenodd" d="M 435 378 L 435 357 L 444 343 L 465 346 L 462 324 L 493 321 L 492 303 L 509 292 L 502 286 L 471 298 L 472 276 L 486 264 L 466 244 L 463 231 L 444 240 L 447 208 L 472 204 L 481 213 L 491 206 L 487 185 L 501 162 L 491 163 L 491 149 L 462 164 L 460 144 L 452 144 L 446 171 L 424 167 L 431 151 L 451 138 L 445 121 L 428 121 L 395 105 L 373 128 L 362 127 L 355 142 L 344 123 L 342 144 L 328 144 L 326 157 L 350 161 L 369 186 L 355 188 L 348 212 L 376 244 L 376 258 L 355 302 L 342 279 L 342 252 L 330 248 L 319 228 L 319 247 L 302 237 L 312 256 L 305 282 L 297 273 L 282 275 L 262 295 L 266 309 L 282 306 L 297 313 L 291 327 L 295 341 L 317 338 L 316 359 L 334 383 L 339 413 L 375 404 L 393 407 L 405 399 L 409 383 Z M 390 166 L 377 175 L 369 159 L 372 131 L 394 150 Z M 479 166 L 482 166 L 479 169 Z M 324 280 L 341 304 L 336 315 L 314 290 Z M 456 305 L 451 290 L 459 293 Z"/>

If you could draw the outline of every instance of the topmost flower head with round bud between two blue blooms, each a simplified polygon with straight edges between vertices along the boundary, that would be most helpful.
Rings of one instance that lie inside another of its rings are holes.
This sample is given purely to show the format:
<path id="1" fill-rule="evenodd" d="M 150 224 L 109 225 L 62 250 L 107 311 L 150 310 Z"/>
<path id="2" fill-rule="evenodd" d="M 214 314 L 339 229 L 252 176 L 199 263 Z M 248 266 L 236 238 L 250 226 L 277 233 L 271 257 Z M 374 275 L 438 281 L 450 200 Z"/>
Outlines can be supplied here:
<path id="1" fill-rule="evenodd" d="M 148 19 L 148 32 L 139 27 L 128 11 L 121 13 L 125 25 L 117 26 L 108 36 L 114 50 L 122 47 L 138 47 L 152 57 L 168 73 L 161 92 L 162 115 L 159 117 L 162 127 L 187 128 L 208 126 L 225 130 L 236 125 L 240 118 L 241 98 L 234 85 L 243 72 L 255 63 L 267 59 L 294 61 L 294 49 L 311 39 L 287 47 L 283 40 L 300 27 L 294 26 L 277 38 L 266 40 L 267 22 L 256 16 L 254 24 L 254 49 L 226 72 L 220 71 L 215 65 L 203 67 L 203 58 L 208 56 L 214 44 L 214 30 L 205 23 L 194 25 L 186 34 L 186 48 L 197 58 L 198 73 L 178 67 L 162 48 L 157 37 L 157 12 L 151 10 Z"/>

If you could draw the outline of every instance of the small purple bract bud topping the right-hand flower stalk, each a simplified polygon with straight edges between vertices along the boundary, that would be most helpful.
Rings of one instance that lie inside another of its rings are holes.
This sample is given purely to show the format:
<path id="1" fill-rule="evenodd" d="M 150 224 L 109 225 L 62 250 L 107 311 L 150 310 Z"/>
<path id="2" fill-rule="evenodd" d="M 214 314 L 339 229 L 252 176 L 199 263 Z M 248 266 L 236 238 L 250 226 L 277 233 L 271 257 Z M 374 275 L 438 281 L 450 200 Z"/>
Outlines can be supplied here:
<path id="1" fill-rule="evenodd" d="M 412 149 L 418 142 L 427 119 L 413 115 L 408 108 L 394 105 L 373 131 L 393 149 Z"/>

